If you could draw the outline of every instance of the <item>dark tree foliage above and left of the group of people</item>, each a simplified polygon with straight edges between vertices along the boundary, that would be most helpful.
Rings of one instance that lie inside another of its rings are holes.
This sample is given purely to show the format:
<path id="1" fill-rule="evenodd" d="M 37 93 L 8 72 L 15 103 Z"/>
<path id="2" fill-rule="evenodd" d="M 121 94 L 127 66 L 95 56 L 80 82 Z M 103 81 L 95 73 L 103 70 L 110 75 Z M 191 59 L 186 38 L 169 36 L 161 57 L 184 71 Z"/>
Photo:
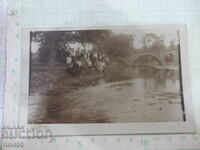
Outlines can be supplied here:
<path id="1" fill-rule="evenodd" d="M 64 63 L 67 55 L 66 44 L 79 42 L 92 43 L 97 47 L 110 34 L 109 30 L 83 31 L 39 31 L 32 32 L 32 40 L 40 44 L 40 61 L 45 63 Z"/>

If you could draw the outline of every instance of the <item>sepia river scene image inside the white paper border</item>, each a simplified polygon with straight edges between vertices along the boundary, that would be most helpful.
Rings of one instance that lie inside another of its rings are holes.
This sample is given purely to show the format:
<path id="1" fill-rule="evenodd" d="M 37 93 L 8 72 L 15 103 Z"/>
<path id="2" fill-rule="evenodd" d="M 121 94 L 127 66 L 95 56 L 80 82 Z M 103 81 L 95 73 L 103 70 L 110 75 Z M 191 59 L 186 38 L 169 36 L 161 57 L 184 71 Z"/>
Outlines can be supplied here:
<path id="1" fill-rule="evenodd" d="M 30 32 L 28 123 L 185 121 L 173 26 Z"/>

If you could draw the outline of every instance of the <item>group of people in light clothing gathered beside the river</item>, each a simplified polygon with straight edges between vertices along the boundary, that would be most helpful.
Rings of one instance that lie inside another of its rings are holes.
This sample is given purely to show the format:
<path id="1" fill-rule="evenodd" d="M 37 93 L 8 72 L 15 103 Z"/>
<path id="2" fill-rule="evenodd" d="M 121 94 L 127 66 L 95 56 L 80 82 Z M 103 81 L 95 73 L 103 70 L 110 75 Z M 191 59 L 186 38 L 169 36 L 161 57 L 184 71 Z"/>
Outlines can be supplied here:
<path id="1" fill-rule="evenodd" d="M 66 57 L 66 71 L 73 77 L 80 76 L 86 69 L 105 72 L 108 64 L 109 58 L 103 52 L 95 50 L 78 49 L 74 51 L 74 49 L 71 49 Z"/>

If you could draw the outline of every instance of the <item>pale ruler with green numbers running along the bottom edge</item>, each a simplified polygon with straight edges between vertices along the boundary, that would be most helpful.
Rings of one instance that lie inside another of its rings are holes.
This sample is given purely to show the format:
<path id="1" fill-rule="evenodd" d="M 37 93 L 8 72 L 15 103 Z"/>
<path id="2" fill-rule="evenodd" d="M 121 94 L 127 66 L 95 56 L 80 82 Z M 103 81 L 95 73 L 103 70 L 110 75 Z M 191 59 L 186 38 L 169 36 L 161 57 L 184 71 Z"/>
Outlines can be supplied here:
<path id="1" fill-rule="evenodd" d="M 63 136 L 3 141 L 7 143 L 21 143 L 23 150 L 200 150 L 200 135 Z"/>

